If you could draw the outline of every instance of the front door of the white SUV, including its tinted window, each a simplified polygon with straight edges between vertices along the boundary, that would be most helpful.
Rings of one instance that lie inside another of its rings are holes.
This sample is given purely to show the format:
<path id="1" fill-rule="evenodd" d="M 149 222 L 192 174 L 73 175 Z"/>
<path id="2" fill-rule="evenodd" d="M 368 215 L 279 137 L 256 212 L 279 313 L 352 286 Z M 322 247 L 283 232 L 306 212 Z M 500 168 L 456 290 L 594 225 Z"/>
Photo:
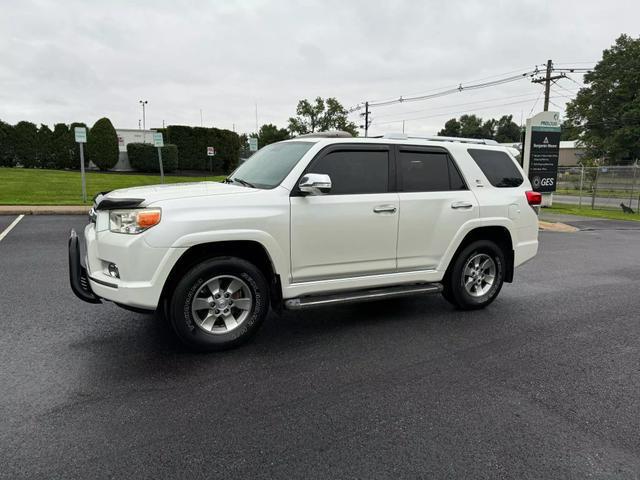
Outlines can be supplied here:
<path id="1" fill-rule="evenodd" d="M 305 173 L 331 178 L 325 195 L 291 196 L 294 282 L 396 270 L 399 200 L 387 145 L 333 145 Z"/>

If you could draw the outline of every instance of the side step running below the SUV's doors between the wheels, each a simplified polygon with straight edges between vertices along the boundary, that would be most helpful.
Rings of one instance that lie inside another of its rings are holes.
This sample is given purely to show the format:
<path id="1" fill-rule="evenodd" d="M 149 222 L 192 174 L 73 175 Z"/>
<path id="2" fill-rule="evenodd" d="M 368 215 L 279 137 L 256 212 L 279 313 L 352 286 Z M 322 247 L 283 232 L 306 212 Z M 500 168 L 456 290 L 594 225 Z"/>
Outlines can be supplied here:
<path id="1" fill-rule="evenodd" d="M 369 302 L 387 298 L 406 297 L 424 293 L 440 293 L 442 285 L 439 283 L 420 283 L 414 285 L 396 285 L 393 287 L 370 288 L 349 292 L 333 293 L 331 295 L 310 295 L 285 300 L 287 310 L 302 310 L 305 308 L 325 307 L 345 303 Z"/>

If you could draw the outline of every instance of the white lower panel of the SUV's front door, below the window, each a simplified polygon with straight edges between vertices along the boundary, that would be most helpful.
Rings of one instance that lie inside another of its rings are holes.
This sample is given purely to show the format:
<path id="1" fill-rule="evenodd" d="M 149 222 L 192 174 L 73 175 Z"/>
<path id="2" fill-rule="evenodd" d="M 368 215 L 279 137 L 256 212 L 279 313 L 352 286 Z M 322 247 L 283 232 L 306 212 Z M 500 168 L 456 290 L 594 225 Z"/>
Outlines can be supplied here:
<path id="1" fill-rule="evenodd" d="M 291 197 L 293 281 L 394 272 L 398 213 L 397 193 Z"/>

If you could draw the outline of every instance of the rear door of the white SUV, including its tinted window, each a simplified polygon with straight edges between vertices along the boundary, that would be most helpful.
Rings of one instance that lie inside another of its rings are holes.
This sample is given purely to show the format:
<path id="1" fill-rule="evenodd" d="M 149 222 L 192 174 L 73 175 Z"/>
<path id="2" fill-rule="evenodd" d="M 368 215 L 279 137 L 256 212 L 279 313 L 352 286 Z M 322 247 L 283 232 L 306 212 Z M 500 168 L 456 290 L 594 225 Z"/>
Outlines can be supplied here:
<path id="1" fill-rule="evenodd" d="M 479 216 L 478 201 L 440 147 L 398 146 L 398 270 L 432 270 L 458 230 Z"/>

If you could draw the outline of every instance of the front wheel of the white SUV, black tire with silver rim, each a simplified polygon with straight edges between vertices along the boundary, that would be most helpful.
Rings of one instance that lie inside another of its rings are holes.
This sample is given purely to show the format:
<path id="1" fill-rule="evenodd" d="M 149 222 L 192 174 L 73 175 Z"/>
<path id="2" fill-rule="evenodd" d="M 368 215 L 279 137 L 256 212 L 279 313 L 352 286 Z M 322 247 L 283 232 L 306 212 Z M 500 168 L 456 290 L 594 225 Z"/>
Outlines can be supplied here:
<path id="1" fill-rule="evenodd" d="M 269 310 L 268 284 L 253 264 L 234 257 L 206 260 L 189 270 L 171 296 L 169 314 L 188 347 L 223 350 L 245 342 Z"/>

